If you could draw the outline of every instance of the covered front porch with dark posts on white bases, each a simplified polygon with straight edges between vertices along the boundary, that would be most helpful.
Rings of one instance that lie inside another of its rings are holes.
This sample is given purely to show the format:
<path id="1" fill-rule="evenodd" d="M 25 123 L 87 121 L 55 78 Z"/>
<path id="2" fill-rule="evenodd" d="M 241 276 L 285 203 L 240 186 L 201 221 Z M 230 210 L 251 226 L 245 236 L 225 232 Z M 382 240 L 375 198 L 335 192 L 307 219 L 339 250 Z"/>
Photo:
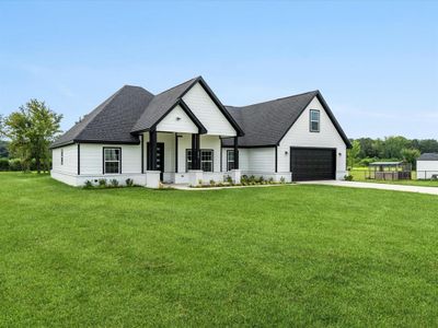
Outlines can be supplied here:
<path id="1" fill-rule="evenodd" d="M 196 186 L 206 181 L 223 181 L 230 176 L 240 183 L 238 140 L 232 153 L 222 150 L 221 138 L 186 132 L 148 131 L 140 134 L 141 173 L 146 185 L 160 183 Z"/>

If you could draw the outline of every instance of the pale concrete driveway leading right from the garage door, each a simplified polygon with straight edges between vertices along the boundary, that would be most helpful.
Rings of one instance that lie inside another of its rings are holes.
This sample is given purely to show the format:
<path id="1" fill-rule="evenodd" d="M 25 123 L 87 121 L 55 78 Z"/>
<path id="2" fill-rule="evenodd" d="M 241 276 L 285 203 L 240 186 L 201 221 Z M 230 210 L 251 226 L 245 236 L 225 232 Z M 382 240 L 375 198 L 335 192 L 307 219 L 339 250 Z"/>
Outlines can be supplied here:
<path id="1" fill-rule="evenodd" d="M 381 190 L 393 190 L 393 191 L 405 191 L 405 192 L 419 192 L 438 196 L 438 187 L 418 187 L 418 186 L 405 186 L 405 185 L 390 185 L 390 184 L 372 184 L 372 183 L 356 183 L 356 181 L 338 181 L 338 180 L 321 180 L 321 181 L 302 181 L 300 185 L 326 185 L 336 187 L 349 187 L 349 188 L 368 188 L 368 189 L 381 189 Z"/>

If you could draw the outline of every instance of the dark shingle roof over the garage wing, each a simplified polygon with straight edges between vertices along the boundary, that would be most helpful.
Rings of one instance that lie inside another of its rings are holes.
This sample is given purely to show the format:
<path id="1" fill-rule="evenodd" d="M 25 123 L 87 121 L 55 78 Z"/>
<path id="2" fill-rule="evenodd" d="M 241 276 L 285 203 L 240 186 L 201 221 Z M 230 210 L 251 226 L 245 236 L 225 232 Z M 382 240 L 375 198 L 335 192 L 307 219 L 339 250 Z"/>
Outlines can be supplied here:
<path id="1" fill-rule="evenodd" d="M 326 109 L 345 143 L 349 145 L 348 138 L 341 129 L 341 126 L 319 91 L 311 91 L 244 107 L 227 106 L 227 109 L 245 131 L 245 136 L 239 138 L 239 145 L 265 147 L 278 144 L 315 96 L 319 97 Z M 223 139 L 223 145 L 232 145 L 232 140 Z"/>

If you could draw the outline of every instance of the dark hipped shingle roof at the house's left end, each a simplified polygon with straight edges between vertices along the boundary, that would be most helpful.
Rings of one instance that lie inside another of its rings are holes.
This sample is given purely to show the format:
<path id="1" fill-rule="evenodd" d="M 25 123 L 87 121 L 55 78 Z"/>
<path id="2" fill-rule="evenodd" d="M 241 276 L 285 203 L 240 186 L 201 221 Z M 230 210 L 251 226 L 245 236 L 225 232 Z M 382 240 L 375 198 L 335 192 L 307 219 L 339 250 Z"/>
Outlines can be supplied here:
<path id="1" fill-rule="evenodd" d="M 152 101 L 153 94 L 125 85 L 56 140 L 51 148 L 72 142 L 138 143 L 132 126 Z"/>

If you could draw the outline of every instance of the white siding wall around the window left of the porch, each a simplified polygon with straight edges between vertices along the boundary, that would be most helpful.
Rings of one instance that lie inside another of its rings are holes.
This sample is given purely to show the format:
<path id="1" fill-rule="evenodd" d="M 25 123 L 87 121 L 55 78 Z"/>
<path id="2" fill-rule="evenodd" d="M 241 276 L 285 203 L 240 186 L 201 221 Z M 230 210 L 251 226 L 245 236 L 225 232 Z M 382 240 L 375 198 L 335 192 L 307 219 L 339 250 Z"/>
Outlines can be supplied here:
<path id="1" fill-rule="evenodd" d="M 103 174 L 103 148 L 122 148 L 122 173 L 141 173 L 141 148 L 137 144 L 81 143 L 81 175 Z M 114 176 L 107 174 L 105 176 Z"/>

